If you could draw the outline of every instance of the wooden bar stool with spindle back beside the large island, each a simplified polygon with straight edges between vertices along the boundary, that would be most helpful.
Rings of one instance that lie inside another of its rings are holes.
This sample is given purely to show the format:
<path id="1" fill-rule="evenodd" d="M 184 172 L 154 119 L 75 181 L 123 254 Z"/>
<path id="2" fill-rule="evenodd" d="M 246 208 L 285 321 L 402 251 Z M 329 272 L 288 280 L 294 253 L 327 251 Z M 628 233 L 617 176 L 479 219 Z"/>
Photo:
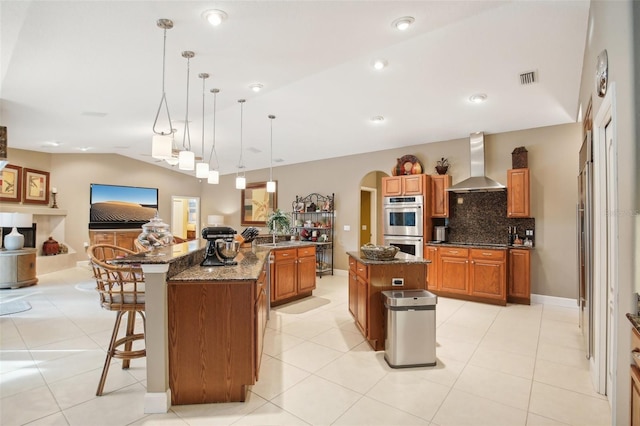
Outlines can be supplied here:
<path id="1" fill-rule="evenodd" d="M 133 350 L 133 342 L 144 339 L 144 331 L 142 333 L 134 331 L 136 313 L 140 314 L 143 327 L 146 328 L 144 274 L 140 266 L 110 263 L 112 259 L 136 254 L 132 250 L 111 244 L 94 244 L 87 248 L 87 254 L 96 279 L 96 289 L 100 294 L 100 305 L 103 309 L 117 312 L 102 376 L 96 391 L 96 395 L 100 396 L 112 358 L 122 359 L 122 368 L 126 369 L 129 368 L 130 360 L 147 354 L 146 349 Z M 125 314 L 127 314 L 126 334 L 118 338 L 118 330 Z"/>

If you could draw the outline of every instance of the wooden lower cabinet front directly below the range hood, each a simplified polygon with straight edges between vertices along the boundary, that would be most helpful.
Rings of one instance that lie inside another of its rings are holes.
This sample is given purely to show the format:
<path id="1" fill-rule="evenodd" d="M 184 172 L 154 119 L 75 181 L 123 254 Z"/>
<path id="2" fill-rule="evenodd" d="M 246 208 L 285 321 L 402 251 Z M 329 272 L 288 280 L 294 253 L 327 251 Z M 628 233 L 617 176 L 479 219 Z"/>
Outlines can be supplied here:
<path id="1" fill-rule="evenodd" d="M 472 250 L 469 268 L 471 294 L 506 300 L 505 252 L 503 250 Z"/>

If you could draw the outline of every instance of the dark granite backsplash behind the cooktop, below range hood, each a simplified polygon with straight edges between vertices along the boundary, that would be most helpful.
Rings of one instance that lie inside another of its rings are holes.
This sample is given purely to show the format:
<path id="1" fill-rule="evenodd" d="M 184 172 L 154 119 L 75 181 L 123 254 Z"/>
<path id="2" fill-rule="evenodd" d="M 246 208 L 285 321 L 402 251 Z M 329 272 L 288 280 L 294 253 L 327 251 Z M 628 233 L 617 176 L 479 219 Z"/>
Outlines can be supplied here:
<path id="1" fill-rule="evenodd" d="M 460 201 L 461 200 L 461 201 Z M 449 241 L 454 243 L 508 244 L 510 226 L 515 226 L 523 240 L 525 231 L 532 230 L 535 243 L 534 218 L 507 218 L 507 193 L 449 193 Z"/>

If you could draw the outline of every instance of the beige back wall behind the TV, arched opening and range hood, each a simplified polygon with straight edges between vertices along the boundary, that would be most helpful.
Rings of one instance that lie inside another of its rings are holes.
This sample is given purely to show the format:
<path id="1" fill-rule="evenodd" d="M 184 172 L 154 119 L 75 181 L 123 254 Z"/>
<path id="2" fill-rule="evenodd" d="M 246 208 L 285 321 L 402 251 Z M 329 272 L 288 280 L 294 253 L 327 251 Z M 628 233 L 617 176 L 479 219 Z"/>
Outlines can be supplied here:
<path id="1" fill-rule="evenodd" d="M 531 202 L 537 232 L 532 271 L 535 294 L 576 297 L 575 203 L 580 140 L 579 124 L 486 135 L 487 174 L 503 184 L 506 184 L 506 171 L 511 168 L 513 149 L 525 146 L 529 151 Z M 447 157 L 454 183 L 469 175 L 467 138 L 276 167 L 273 173 L 278 181 L 278 207 L 290 211 L 296 195 L 335 193 L 335 267 L 346 270 L 345 253 L 359 247 L 359 199 L 363 179 L 375 172 L 375 182 L 379 182 L 382 176 L 391 174 L 396 159 L 407 154 L 417 156 L 427 173 L 433 173 L 440 157 Z M 69 210 L 66 242 L 79 252 L 79 260 L 84 256 L 82 245 L 87 241 L 89 184 L 92 182 L 158 187 L 160 216 L 166 222 L 171 219 L 172 195 L 200 196 L 202 226 L 206 226 L 207 215 L 223 214 L 226 225 L 242 229 L 240 191 L 234 187 L 235 175 L 222 176 L 219 185 L 208 185 L 194 177 L 119 155 L 37 154 L 34 157 L 31 151 L 10 149 L 9 158 L 12 163 L 29 167 L 32 158 L 36 158 L 38 167 L 51 171 L 52 185 L 59 191 L 58 204 Z M 265 181 L 268 170 L 247 172 L 246 176 L 248 182 Z M 369 180 L 366 183 L 370 185 Z M 351 230 L 344 231 L 345 225 Z"/>

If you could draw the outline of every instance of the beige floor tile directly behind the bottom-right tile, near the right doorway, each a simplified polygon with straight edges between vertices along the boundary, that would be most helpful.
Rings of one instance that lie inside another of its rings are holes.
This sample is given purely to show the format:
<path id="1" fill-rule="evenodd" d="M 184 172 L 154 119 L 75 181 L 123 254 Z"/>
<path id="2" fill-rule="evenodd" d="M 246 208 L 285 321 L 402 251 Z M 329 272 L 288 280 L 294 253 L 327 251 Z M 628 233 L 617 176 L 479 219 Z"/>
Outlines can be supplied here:
<path id="1" fill-rule="evenodd" d="M 536 361 L 536 371 L 533 375 L 533 380 L 558 388 L 583 393 L 594 398 L 606 398 L 593 390 L 591 373 L 588 369 L 538 359 Z"/>

